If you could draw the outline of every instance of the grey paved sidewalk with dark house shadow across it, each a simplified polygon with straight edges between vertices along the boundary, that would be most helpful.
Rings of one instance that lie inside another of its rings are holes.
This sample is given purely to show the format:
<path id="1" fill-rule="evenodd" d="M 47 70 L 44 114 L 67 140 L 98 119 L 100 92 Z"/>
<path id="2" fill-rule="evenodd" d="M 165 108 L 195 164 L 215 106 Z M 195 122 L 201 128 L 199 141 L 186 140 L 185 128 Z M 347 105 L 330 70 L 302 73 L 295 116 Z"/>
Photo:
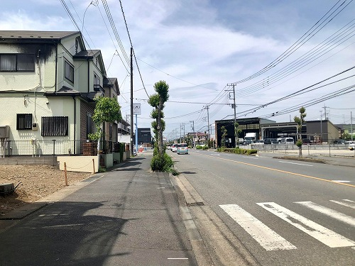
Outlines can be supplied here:
<path id="1" fill-rule="evenodd" d="M 182 195 L 168 173 L 150 171 L 152 156 L 9 213 L 0 221 L 0 265 L 197 265 Z"/>

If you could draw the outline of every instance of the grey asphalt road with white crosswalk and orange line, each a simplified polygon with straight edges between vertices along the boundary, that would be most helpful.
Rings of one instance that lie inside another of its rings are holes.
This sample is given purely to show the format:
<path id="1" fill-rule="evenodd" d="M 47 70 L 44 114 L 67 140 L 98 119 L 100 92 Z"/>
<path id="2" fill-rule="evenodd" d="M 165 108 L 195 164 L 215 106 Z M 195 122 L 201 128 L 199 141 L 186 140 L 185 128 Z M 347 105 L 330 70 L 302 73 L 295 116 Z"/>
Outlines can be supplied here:
<path id="1" fill-rule="evenodd" d="M 354 167 L 168 153 L 216 265 L 355 265 Z"/>

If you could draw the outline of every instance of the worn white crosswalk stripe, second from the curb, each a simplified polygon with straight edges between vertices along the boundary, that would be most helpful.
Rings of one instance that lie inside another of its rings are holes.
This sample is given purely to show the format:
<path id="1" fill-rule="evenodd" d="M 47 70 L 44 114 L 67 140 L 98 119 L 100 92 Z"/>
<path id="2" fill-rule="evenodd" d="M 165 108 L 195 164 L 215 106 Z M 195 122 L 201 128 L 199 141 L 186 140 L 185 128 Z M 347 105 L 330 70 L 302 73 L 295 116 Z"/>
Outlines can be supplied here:
<path id="1" fill-rule="evenodd" d="M 317 224 L 303 216 L 300 216 L 299 214 L 296 214 L 283 206 L 275 204 L 274 202 L 263 202 L 257 204 L 330 248 L 352 247 L 355 245 L 354 241 L 345 238 L 344 236 L 339 235 L 338 233 L 335 233 L 334 231 L 331 231 L 328 228 L 325 228 L 324 226 L 321 226 L 320 224 Z"/>

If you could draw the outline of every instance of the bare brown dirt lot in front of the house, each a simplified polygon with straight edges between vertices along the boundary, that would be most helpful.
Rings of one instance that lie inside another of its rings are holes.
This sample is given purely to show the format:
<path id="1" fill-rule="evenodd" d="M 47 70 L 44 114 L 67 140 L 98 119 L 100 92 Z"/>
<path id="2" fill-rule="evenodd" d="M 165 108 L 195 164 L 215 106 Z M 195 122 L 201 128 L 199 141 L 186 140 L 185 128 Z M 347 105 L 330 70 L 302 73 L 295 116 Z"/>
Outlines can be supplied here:
<path id="1" fill-rule="evenodd" d="M 85 172 L 67 172 L 69 185 L 91 176 Z M 65 173 L 48 165 L 0 165 L 0 184 L 13 183 L 15 192 L 0 195 L 0 215 L 37 201 L 65 187 Z"/>

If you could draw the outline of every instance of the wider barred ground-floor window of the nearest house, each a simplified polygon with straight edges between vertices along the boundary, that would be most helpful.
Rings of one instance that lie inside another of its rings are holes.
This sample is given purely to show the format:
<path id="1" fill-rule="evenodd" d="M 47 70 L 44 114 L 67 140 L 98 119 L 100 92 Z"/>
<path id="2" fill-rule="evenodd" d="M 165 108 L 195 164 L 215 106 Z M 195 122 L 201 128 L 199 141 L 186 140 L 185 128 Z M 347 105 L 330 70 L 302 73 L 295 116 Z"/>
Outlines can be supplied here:
<path id="1" fill-rule="evenodd" d="M 43 116 L 42 117 L 42 136 L 67 135 L 68 117 L 67 116 Z"/>

